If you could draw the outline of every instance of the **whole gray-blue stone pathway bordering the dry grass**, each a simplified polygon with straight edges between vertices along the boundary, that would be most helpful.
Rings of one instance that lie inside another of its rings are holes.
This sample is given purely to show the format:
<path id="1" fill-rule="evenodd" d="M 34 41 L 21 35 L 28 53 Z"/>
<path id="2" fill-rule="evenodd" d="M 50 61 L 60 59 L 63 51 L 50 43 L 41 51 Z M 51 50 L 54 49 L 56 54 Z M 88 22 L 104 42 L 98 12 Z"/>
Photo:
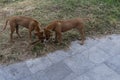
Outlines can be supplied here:
<path id="1" fill-rule="evenodd" d="M 0 66 L 0 80 L 120 80 L 120 35 L 90 39 L 83 46 Z"/>

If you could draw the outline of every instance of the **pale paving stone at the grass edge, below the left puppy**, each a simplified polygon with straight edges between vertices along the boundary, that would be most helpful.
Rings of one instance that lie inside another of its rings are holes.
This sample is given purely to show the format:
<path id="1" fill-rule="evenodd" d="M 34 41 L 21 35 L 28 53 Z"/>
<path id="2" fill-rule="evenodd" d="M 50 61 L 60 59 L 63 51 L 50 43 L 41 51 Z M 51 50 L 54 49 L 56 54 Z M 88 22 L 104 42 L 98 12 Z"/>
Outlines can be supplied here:
<path id="1" fill-rule="evenodd" d="M 50 60 L 47 57 L 41 57 L 34 60 L 31 59 L 26 61 L 26 63 L 32 73 L 44 70 L 50 65 L 52 65 L 52 62 L 50 62 Z"/>

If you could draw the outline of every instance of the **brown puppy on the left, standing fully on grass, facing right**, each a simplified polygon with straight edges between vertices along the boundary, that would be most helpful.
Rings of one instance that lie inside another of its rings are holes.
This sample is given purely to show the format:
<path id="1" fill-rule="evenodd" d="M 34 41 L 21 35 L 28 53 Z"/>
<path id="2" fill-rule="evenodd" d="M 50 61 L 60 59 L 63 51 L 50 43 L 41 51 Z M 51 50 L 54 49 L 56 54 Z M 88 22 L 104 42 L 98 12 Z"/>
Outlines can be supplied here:
<path id="1" fill-rule="evenodd" d="M 10 24 L 10 29 L 11 29 L 11 33 L 10 33 L 10 41 L 13 41 L 13 33 L 16 30 L 16 34 L 18 35 L 19 38 L 21 38 L 18 29 L 19 29 L 19 25 L 20 26 L 24 26 L 29 30 L 29 38 L 31 40 L 31 32 L 34 31 L 34 34 L 39 38 L 39 39 L 44 39 L 43 37 L 43 32 L 40 32 L 40 28 L 39 28 L 39 23 L 37 22 L 37 20 L 30 18 L 30 17 L 25 17 L 25 16 L 13 16 L 10 17 L 6 20 L 6 24 L 4 26 L 3 31 L 6 29 L 7 23 L 9 21 Z"/>

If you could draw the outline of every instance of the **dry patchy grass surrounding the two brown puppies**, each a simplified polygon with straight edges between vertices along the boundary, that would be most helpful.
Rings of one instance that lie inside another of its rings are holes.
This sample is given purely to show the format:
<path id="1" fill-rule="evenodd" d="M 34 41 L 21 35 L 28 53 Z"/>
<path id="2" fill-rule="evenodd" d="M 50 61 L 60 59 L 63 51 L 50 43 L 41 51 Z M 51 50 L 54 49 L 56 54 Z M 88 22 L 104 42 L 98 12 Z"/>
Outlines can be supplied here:
<path id="1" fill-rule="evenodd" d="M 23 0 L 1 6 L 0 17 L 2 29 L 4 19 L 12 15 L 24 15 L 37 19 L 45 27 L 55 19 L 70 19 L 89 17 L 85 22 L 87 37 L 103 36 L 120 33 L 120 3 L 113 0 Z M 117 1 L 117 0 L 116 0 Z M 115 4 L 117 3 L 117 4 Z M 67 49 L 71 41 L 80 38 L 76 30 L 63 33 L 63 44 L 39 43 L 34 46 L 28 44 L 28 31 L 20 29 L 22 38 L 14 35 L 15 43 L 9 43 L 9 27 L 0 34 L 0 63 L 10 64 L 30 58 L 45 56 L 58 49 Z M 53 36 L 54 37 L 54 36 Z M 34 36 L 33 36 L 34 39 Z"/>

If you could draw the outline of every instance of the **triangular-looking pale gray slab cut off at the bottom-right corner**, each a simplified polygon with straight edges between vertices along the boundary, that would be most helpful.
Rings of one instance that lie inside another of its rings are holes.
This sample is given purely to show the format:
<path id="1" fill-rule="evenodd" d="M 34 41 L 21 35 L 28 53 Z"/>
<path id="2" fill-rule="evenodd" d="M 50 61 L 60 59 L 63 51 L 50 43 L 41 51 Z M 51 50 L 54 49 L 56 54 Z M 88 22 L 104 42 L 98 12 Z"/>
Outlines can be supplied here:
<path id="1" fill-rule="evenodd" d="M 74 80 L 120 80 L 120 75 L 102 64 Z"/>

